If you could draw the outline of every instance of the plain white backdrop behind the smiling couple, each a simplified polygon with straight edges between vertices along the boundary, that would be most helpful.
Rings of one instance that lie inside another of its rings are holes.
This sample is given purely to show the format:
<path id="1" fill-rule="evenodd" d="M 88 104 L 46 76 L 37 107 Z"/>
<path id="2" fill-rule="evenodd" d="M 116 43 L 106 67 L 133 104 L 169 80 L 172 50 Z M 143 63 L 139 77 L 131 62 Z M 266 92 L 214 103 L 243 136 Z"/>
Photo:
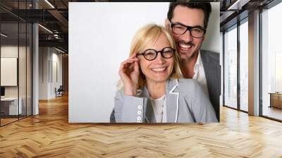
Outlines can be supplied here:
<path id="1" fill-rule="evenodd" d="M 164 25 L 168 5 L 69 3 L 70 123 L 109 122 L 119 79 L 118 67 L 128 57 L 133 35 L 148 23 Z M 219 3 L 213 3 L 212 7 L 214 15 L 203 47 L 219 52 Z"/>

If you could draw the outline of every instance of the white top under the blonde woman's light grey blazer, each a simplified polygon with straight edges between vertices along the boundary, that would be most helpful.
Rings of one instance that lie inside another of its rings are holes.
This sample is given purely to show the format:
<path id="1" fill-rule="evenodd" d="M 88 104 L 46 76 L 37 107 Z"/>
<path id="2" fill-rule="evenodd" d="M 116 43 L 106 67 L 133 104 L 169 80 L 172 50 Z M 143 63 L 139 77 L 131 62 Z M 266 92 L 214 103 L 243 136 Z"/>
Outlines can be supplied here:
<path id="1" fill-rule="evenodd" d="M 154 117 L 157 123 L 165 123 L 166 119 L 166 95 L 158 99 L 152 99 L 152 107 L 154 110 Z"/>

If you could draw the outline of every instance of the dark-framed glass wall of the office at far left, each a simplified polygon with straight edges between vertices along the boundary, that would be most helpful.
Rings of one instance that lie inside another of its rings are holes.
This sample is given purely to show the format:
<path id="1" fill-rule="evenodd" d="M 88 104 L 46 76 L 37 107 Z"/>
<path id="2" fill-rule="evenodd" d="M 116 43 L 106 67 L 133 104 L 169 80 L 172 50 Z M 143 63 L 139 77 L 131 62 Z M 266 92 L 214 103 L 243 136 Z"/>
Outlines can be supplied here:
<path id="1" fill-rule="evenodd" d="M 31 1 L 2 4 L 11 11 L 31 8 Z M 32 24 L 0 8 L 0 32 L 0 126 L 4 126 L 32 114 Z"/>

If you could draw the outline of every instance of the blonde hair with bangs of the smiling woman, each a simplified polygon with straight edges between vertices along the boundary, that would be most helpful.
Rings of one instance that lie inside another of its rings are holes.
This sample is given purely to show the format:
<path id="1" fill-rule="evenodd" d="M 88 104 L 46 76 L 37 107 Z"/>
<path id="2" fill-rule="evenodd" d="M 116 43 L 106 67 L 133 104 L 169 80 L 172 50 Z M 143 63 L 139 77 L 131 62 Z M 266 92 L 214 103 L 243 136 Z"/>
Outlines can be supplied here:
<path id="1" fill-rule="evenodd" d="M 156 42 L 157 39 L 159 39 L 159 36 L 162 33 L 168 39 L 170 47 L 173 48 L 173 49 L 176 49 L 176 43 L 175 43 L 171 33 L 168 32 L 168 30 L 166 30 L 166 28 L 164 28 L 160 25 L 156 25 L 156 24 L 148 24 L 148 25 L 145 25 L 144 27 L 140 28 L 140 30 L 137 30 L 137 32 L 135 33 L 133 40 L 131 42 L 129 56 L 131 56 L 135 52 L 143 51 L 145 49 L 145 47 L 147 47 L 148 44 Z M 179 59 L 178 59 L 178 52 L 177 51 L 175 51 L 175 53 L 173 54 L 173 59 L 174 59 L 173 71 L 172 71 L 171 75 L 169 76 L 169 78 L 181 78 L 182 74 L 181 74 L 180 67 L 179 67 Z M 141 68 L 140 68 L 140 76 L 139 76 L 139 79 L 138 79 L 137 89 L 142 89 L 142 87 L 144 87 L 145 83 L 146 83 L 146 78 L 145 78 L 145 75 L 142 73 Z M 123 88 L 123 84 L 120 80 L 119 83 L 118 83 L 118 89 L 122 89 L 122 88 Z"/>

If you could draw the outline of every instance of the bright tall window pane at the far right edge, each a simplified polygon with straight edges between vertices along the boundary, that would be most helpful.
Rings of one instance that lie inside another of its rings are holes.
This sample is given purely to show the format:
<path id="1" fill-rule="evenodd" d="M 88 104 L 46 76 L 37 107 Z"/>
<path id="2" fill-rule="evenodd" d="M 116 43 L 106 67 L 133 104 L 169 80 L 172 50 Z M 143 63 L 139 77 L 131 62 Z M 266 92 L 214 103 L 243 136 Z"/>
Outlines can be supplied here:
<path id="1" fill-rule="evenodd" d="M 282 121 L 282 4 L 262 12 L 262 116 Z"/>

